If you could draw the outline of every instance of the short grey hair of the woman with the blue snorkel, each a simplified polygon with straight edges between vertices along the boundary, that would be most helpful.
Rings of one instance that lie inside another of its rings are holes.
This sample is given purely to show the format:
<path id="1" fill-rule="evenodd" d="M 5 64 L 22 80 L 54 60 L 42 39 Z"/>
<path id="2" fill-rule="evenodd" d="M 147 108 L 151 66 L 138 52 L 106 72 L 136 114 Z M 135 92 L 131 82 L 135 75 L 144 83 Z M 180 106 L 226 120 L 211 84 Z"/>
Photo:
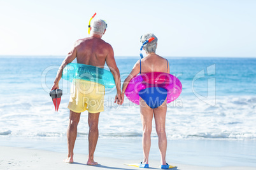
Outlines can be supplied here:
<path id="1" fill-rule="evenodd" d="M 152 53 L 152 52 L 155 53 L 155 49 L 157 49 L 157 37 L 153 33 L 147 33 L 141 36 L 141 43 L 145 42 L 151 37 L 154 37 L 155 39 L 144 45 L 144 49 L 146 53 Z"/>

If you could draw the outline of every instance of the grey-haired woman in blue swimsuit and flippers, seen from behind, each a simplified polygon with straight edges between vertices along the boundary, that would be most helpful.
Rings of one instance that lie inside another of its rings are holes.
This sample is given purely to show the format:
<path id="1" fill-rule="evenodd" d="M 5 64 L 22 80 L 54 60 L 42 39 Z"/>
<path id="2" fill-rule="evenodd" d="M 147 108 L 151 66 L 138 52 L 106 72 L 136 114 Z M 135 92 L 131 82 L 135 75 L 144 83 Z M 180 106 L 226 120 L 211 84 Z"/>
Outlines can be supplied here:
<path id="1" fill-rule="evenodd" d="M 145 34 L 141 36 L 141 42 L 153 37 L 153 41 L 145 44 L 144 48 L 146 51 L 146 57 L 138 60 L 134 65 L 130 75 L 125 79 L 123 88 L 122 88 L 122 98 L 124 99 L 124 92 L 127 88 L 127 84 L 131 81 L 132 77 L 143 74 L 146 72 L 163 72 L 169 74 L 169 63 L 165 58 L 157 55 L 155 49 L 157 49 L 157 37 L 154 34 Z M 161 155 L 161 168 L 169 169 L 172 166 L 169 166 L 166 163 L 166 148 L 167 148 L 167 139 L 166 139 L 166 100 L 159 103 L 157 98 L 151 98 L 150 101 L 153 101 L 152 104 L 149 104 L 141 97 L 139 98 L 139 106 L 141 112 L 141 122 L 143 126 L 143 162 L 139 167 L 148 167 L 148 156 L 150 153 L 151 145 L 151 131 L 152 131 L 152 119 L 155 118 L 155 128 L 157 131 L 157 136 L 159 137 L 159 150 Z M 154 103 L 157 105 L 155 106 Z M 148 105 L 149 104 L 149 105 Z"/>

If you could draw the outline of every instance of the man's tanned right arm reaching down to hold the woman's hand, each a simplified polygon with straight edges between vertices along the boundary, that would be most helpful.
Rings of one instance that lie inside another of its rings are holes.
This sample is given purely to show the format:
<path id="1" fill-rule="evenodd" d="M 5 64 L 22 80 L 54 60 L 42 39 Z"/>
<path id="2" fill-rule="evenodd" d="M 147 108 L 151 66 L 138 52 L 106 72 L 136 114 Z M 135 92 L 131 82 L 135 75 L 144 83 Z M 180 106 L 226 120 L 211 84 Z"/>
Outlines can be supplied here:
<path id="1" fill-rule="evenodd" d="M 118 104 L 122 103 L 121 96 L 121 80 L 120 80 L 120 72 L 117 68 L 117 63 L 115 62 L 114 51 L 112 46 L 109 44 L 108 55 L 106 56 L 106 64 L 110 68 L 110 72 L 113 74 L 115 79 L 115 86 L 117 87 L 117 95 L 115 96 L 115 102 Z"/>

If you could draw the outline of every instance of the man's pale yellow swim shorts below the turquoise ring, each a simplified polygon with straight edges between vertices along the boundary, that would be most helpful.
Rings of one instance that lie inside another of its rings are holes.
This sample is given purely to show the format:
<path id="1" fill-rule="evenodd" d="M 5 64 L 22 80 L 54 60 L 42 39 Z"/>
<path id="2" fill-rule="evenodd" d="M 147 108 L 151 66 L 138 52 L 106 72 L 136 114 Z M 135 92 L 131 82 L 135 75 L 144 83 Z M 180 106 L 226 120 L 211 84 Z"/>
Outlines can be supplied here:
<path id="1" fill-rule="evenodd" d="M 97 82 L 74 79 L 71 85 L 68 108 L 76 113 L 104 111 L 105 87 Z"/>

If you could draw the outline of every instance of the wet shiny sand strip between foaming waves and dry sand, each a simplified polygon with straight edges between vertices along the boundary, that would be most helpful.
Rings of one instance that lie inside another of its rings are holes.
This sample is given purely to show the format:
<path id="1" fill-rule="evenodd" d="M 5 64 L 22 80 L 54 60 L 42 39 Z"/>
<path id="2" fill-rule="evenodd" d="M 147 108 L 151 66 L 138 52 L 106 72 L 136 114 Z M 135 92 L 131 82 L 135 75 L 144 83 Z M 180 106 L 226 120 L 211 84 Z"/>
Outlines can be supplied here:
<path id="1" fill-rule="evenodd" d="M 7 148 L 24 148 L 25 150 L 59 153 L 62 155 L 61 160 L 66 157 L 67 153 L 66 136 L 40 138 L 14 138 L 10 136 L 2 136 L 1 138 L 0 136 L 0 143 L 0 146 Z M 157 140 L 152 140 L 150 149 L 150 162 L 156 162 L 155 168 L 159 166 L 160 162 L 157 143 Z M 168 140 L 167 143 L 166 161 L 171 165 L 175 163 L 176 166 L 190 165 L 214 168 L 248 166 L 256 169 L 255 140 Z M 83 157 L 83 159 L 79 162 L 87 162 L 87 136 L 78 136 L 74 153 L 75 161 L 78 161 L 76 155 L 80 155 L 79 157 Z M 99 138 L 94 156 L 113 160 L 122 159 L 120 161 L 122 164 L 139 163 L 143 159 L 141 138 Z M 96 159 L 98 162 L 101 162 L 100 160 Z M 124 160 L 133 161 L 127 162 Z"/>

